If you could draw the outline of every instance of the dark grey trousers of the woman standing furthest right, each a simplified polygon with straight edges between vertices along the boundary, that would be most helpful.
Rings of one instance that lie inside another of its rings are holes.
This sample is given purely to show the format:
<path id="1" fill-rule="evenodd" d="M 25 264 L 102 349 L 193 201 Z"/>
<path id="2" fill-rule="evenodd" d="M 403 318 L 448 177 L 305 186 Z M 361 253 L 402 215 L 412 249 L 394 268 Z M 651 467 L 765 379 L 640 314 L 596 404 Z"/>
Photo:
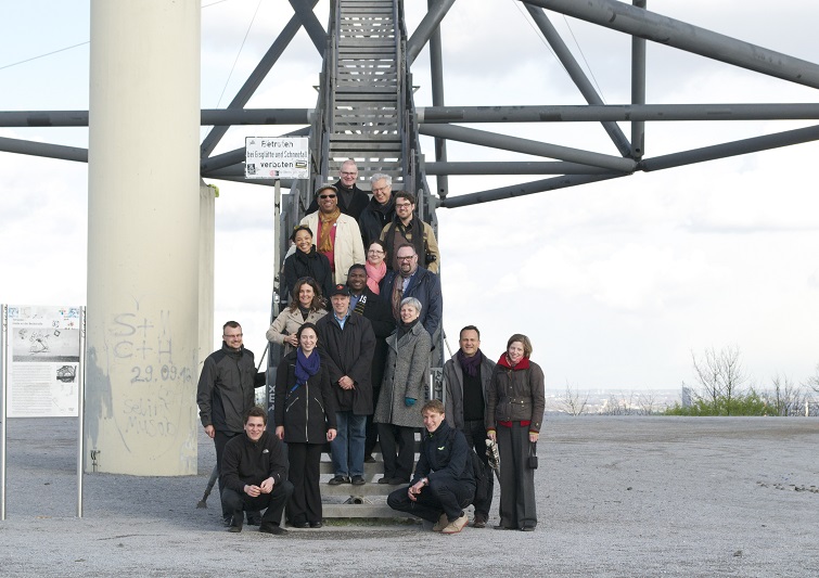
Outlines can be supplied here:
<path id="1" fill-rule="evenodd" d="M 509 528 L 535 527 L 535 471 L 527 465 L 529 428 L 512 422 L 498 426 L 500 452 L 500 525 Z"/>

